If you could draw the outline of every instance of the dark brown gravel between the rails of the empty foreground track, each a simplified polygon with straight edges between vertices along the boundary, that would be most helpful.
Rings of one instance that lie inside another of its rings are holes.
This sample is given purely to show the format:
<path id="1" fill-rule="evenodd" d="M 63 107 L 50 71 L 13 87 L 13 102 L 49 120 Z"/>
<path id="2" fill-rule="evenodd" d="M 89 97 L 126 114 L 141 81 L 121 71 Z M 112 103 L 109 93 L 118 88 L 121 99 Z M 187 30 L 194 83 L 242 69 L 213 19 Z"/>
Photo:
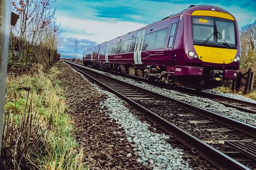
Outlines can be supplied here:
<path id="1" fill-rule="evenodd" d="M 251 139 L 250 136 L 239 132 L 239 131 L 229 131 L 229 132 L 219 132 L 219 131 L 209 131 L 207 129 L 216 129 L 216 128 L 228 128 L 217 122 L 210 122 L 210 123 L 190 123 L 189 120 L 208 120 L 203 116 L 200 116 L 197 113 L 190 112 L 185 108 L 179 106 L 176 103 L 170 104 L 169 101 L 147 101 L 145 100 L 137 100 L 142 106 L 149 108 L 152 112 L 159 114 L 166 120 L 174 123 L 176 126 L 179 126 L 186 132 L 193 134 L 197 138 L 205 141 L 206 143 L 212 145 L 216 149 L 223 148 L 222 144 L 218 144 L 220 141 L 223 140 L 244 140 L 244 139 Z M 194 116 L 184 116 L 180 114 L 194 114 Z M 218 144 L 215 145 L 214 143 Z M 223 148 L 225 150 L 225 147 Z"/>

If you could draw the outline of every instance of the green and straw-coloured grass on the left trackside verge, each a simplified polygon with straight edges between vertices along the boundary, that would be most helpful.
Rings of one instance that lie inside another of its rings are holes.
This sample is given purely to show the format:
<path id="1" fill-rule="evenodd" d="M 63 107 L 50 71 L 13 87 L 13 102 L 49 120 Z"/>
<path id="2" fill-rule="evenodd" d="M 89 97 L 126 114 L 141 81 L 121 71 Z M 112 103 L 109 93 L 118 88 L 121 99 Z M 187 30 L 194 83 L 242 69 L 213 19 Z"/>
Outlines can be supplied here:
<path id="1" fill-rule="evenodd" d="M 7 77 L 2 159 L 8 169 L 84 170 L 59 70 Z"/>

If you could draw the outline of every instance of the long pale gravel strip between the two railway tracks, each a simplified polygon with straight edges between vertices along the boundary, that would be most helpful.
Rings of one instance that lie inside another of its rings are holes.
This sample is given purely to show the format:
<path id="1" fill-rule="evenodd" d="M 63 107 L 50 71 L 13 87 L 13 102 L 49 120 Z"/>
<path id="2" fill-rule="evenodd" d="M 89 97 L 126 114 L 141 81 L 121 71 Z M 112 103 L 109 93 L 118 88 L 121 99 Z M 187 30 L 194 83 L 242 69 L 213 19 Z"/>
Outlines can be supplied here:
<path id="1" fill-rule="evenodd" d="M 119 80 L 122 80 L 122 81 L 125 81 L 127 83 L 137 85 L 139 87 L 142 87 L 142 88 L 145 88 L 145 89 L 148 89 L 148 90 L 151 90 L 151 91 L 155 91 L 157 93 L 175 98 L 177 100 L 180 100 L 180 101 L 198 106 L 200 108 L 204 108 L 206 110 L 210 110 L 212 112 L 219 113 L 221 115 L 224 115 L 224 116 L 230 117 L 232 119 L 250 124 L 252 126 L 256 126 L 256 114 L 242 112 L 242 111 L 239 111 L 235 108 L 229 108 L 229 107 L 224 106 L 223 104 L 212 101 L 208 98 L 190 96 L 190 95 L 183 94 L 181 92 L 174 91 L 174 90 L 161 89 L 159 87 L 149 85 L 145 82 L 128 79 L 128 78 L 125 78 L 125 77 L 122 77 L 122 76 L 116 76 L 116 75 L 106 73 L 106 72 L 103 72 L 103 71 L 99 71 L 99 70 L 89 68 L 89 67 L 86 67 L 86 68 L 91 69 L 91 70 L 93 70 L 95 72 L 98 72 L 98 73 L 103 73 L 105 75 L 108 75 L 110 77 L 113 77 L 113 78 L 116 78 L 116 79 L 119 79 Z"/>

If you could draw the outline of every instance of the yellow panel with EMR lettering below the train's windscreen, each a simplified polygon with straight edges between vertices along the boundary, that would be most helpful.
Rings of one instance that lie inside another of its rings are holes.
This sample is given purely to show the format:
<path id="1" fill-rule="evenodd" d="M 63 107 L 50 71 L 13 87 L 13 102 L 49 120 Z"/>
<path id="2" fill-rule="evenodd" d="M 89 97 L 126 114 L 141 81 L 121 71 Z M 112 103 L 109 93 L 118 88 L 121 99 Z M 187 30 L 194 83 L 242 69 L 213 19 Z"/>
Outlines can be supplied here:
<path id="1" fill-rule="evenodd" d="M 198 58 L 203 62 L 229 64 L 233 62 L 236 49 L 224 49 L 194 45 Z"/>

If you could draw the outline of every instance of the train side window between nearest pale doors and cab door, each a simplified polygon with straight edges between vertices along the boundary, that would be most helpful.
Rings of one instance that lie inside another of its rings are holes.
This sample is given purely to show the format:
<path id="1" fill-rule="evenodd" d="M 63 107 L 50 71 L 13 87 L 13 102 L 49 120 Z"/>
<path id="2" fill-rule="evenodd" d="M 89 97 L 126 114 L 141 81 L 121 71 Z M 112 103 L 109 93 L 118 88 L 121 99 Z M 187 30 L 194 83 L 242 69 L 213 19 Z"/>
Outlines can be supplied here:
<path id="1" fill-rule="evenodd" d="M 164 48 L 168 28 L 151 32 L 145 35 L 142 50 Z"/>

